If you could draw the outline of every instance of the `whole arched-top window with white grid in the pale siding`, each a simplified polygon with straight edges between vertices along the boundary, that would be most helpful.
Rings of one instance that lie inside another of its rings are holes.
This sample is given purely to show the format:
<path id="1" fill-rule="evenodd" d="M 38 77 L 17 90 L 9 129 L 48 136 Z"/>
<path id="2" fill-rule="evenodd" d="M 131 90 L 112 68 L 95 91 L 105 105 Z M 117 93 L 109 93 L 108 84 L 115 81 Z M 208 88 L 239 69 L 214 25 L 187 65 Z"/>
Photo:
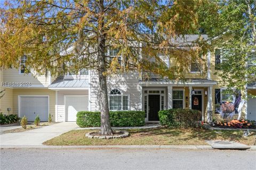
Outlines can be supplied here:
<path id="1" fill-rule="evenodd" d="M 110 91 L 109 95 L 109 109 L 111 111 L 127 111 L 129 110 L 130 95 L 123 95 L 118 89 Z"/>

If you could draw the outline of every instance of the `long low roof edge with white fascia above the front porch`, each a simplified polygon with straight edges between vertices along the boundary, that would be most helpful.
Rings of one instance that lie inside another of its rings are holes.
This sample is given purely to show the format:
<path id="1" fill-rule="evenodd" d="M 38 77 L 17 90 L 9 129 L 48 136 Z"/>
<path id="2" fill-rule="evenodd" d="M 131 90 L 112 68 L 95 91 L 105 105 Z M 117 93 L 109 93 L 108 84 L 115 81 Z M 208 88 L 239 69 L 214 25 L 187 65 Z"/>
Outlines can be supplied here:
<path id="1" fill-rule="evenodd" d="M 170 79 L 149 79 L 147 81 L 139 81 L 140 84 L 170 84 L 170 85 L 180 85 L 180 86 L 213 86 L 217 84 L 217 81 L 208 79 L 186 79 L 186 80 L 170 80 Z"/>

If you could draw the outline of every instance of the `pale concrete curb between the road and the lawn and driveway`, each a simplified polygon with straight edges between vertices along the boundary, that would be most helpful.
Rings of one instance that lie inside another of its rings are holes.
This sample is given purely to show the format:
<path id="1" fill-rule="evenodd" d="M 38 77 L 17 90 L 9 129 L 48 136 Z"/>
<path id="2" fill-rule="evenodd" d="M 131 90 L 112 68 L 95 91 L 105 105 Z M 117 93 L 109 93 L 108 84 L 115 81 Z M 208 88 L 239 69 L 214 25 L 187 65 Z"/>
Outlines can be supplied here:
<path id="1" fill-rule="evenodd" d="M 0 149 L 213 149 L 208 145 L 102 145 L 102 146 L 45 146 L 45 145 L 5 145 Z M 256 149 L 256 148 L 255 148 Z"/>

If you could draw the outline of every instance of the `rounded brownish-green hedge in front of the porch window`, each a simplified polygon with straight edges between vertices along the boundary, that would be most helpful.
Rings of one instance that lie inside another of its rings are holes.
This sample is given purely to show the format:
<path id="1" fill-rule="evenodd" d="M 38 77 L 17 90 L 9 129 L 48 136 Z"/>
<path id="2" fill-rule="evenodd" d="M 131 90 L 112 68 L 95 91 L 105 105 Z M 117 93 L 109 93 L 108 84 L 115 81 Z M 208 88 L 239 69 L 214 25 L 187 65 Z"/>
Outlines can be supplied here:
<path id="1" fill-rule="evenodd" d="M 196 121 L 201 118 L 200 111 L 181 108 L 159 111 L 158 115 L 161 125 L 184 128 L 195 127 Z"/>

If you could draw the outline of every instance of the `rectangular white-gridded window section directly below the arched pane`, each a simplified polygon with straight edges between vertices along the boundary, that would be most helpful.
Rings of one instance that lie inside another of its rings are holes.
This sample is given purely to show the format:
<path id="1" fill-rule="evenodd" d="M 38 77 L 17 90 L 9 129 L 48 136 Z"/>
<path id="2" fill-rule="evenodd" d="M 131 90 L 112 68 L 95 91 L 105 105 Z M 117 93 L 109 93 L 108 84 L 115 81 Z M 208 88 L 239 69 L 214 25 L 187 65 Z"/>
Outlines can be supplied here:
<path id="1" fill-rule="evenodd" d="M 109 96 L 109 109 L 110 110 L 128 110 L 129 97 L 128 96 Z"/>

